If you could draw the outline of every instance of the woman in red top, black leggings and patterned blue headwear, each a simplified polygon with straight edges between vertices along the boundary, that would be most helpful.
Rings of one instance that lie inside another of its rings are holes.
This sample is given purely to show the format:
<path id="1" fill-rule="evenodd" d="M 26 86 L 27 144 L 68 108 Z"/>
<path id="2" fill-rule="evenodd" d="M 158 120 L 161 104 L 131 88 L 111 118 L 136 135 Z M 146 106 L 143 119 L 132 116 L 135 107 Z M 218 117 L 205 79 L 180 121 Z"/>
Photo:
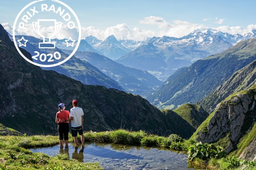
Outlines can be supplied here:
<path id="1" fill-rule="evenodd" d="M 60 139 L 60 147 L 63 147 L 63 135 L 65 140 L 65 147 L 68 147 L 68 132 L 69 132 L 69 122 L 65 121 L 70 119 L 69 111 L 65 111 L 65 106 L 63 103 L 58 105 L 58 113 L 56 114 L 55 122 L 58 123 L 58 133 Z M 61 121 L 64 120 L 64 121 Z"/>

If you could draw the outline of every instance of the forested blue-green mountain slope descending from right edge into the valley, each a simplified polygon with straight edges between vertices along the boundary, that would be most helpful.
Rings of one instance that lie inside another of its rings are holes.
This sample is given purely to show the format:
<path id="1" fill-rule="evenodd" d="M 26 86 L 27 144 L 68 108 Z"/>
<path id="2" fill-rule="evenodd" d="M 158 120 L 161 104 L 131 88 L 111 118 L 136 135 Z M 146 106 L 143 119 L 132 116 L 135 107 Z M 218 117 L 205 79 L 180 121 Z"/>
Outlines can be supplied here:
<path id="1" fill-rule="evenodd" d="M 256 38 L 245 40 L 220 54 L 196 61 L 179 74 L 170 76 L 146 99 L 158 108 L 176 108 L 186 102 L 195 103 L 203 99 L 256 59 L 255 42 Z"/>

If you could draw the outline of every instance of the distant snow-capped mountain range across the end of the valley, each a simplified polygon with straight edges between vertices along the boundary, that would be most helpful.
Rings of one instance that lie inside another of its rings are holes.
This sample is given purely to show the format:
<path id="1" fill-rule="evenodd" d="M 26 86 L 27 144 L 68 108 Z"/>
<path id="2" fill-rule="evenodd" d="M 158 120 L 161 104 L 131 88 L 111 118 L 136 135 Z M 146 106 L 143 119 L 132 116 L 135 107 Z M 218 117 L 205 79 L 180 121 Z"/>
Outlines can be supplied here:
<path id="1" fill-rule="evenodd" d="M 93 36 L 87 37 L 86 40 L 94 40 L 94 45 L 90 42 L 92 47 L 113 60 L 118 59 L 116 62 L 146 70 L 158 79 L 166 80 L 180 67 L 191 65 L 209 55 L 221 53 L 237 42 L 253 37 L 256 37 L 256 29 L 242 36 L 207 28 L 194 30 L 180 38 L 163 36 L 134 41 L 116 40 L 112 35 L 103 42 Z"/>

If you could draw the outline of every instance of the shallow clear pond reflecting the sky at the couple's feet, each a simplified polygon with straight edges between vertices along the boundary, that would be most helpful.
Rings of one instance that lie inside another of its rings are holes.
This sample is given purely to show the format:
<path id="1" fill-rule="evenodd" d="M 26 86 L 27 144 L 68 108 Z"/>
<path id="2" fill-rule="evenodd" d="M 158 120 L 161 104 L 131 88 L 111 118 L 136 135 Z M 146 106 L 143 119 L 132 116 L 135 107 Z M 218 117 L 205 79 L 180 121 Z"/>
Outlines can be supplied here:
<path id="1" fill-rule="evenodd" d="M 68 149 L 60 149 L 57 145 L 30 150 L 46 153 L 49 156 L 66 153 L 70 159 L 77 159 L 80 162 L 98 161 L 105 170 L 187 170 L 189 167 L 186 154 L 120 144 L 90 143 L 85 144 L 84 148 L 81 146 L 75 148 L 74 144 L 70 143 Z"/>

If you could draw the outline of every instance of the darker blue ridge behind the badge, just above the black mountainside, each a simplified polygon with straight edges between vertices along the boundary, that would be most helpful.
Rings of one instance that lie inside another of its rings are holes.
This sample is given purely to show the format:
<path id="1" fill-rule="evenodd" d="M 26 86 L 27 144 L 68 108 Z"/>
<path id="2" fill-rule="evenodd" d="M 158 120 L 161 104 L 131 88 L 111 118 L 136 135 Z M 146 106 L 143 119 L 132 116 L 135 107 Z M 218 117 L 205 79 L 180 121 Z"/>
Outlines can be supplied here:
<path id="1" fill-rule="evenodd" d="M 29 40 L 26 43 L 26 47 L 22 48 L 29 51 L 30 54 L 34 55 L 34 51 L 40 51 L 40 53 L 49 54 L 58 51 L 62 57 L 68 57 L 67 54 L 63 53 L 60 49 L 39 49 L 38 43 L 41 41 L 38 38 L 32 36 L 16 36 L 18 39 L 24 37 Z M 64 74 L 73 79 L 79 80 L 85 85 L 103 85 L 107 88 L 116 88 L 118 90 L 123 90 L 123 88 L 115 80 L 108 77 L 106 74 L 99 71 L 98 68 L 94 67 L 88 62 L 81 61 L 76 57 L 71 57 L 67 62 L 50 68 L 43 68 L 45 70 L 57 71 L 60 74 Z"/>

